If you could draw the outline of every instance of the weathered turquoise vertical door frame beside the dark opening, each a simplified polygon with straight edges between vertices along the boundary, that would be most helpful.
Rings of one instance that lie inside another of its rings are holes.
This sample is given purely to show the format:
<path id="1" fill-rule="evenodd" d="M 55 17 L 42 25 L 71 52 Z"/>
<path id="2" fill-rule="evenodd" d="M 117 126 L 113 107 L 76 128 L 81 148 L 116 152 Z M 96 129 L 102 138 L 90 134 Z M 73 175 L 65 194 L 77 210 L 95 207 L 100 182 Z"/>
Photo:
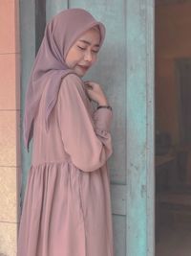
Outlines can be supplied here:
<path id="1" fill-rule="evenodd" d="M 127 1 L 128 256 L 155 255 L 155 2 Z"/>

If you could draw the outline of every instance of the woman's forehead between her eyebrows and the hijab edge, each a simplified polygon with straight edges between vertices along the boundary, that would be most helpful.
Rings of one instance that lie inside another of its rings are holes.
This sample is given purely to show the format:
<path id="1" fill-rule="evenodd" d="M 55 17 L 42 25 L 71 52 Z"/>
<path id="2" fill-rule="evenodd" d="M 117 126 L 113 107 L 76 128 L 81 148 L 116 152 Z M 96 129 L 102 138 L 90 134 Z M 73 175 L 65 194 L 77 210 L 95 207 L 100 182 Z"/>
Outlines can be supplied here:
<path id="1" fill-rule="evenodd" d="M 91 28 L 90 30 L 86 31 L 83 35 L 79 36 L 77 41 L 81 41 L 86 44 L 96 44 L 96 46 L 98 46 L 100 42 L 100 33 L 98 28 Z"/>

